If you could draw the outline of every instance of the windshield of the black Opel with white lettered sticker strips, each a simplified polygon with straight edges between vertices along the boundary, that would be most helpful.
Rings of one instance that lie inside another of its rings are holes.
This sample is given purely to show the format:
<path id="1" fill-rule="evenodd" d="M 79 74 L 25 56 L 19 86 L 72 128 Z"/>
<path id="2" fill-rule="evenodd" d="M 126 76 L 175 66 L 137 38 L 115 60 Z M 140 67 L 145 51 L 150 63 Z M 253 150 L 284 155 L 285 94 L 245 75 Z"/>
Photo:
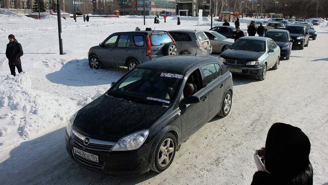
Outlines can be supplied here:
<path id="1" fill-rule="evenodd" d="M 114 84 L 108 94 L 128 101 L 168 105 L 182 79 L 182 74 L 135 68 Z"/>

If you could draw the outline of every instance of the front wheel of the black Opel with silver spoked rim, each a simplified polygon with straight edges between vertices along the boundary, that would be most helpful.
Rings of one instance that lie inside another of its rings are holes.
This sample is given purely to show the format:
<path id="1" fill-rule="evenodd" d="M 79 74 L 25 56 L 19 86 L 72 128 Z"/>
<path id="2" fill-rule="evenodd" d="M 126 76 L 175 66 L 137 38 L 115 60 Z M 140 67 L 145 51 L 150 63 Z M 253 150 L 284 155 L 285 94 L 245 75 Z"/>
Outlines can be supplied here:
<path id="1" fill-rule="evenodd" d="M 166 170 L 172 164 L 176 154 L 176 149 L 176 137 L 172 133 L 167 133 L 157 143 L 156 149 L 153 153 L 150 170 L 158 173 Z"/>

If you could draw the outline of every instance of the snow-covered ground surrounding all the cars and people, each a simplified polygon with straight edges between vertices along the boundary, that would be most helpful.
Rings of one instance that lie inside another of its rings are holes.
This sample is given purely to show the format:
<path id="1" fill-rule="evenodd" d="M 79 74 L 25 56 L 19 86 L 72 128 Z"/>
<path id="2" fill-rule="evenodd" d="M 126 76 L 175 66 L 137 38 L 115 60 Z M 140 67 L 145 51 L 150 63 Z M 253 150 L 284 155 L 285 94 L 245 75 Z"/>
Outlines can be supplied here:
<path id="1" fill-rule="evenodd" d="M 62 19 L 66 54 L 59 55 L 57 17 L 41 20 L 0 12 L 0 184 L 250 184 L 252 153 L 264 145 L 276 121 L 300 127 L 310 138 L 314 184 L 328 182 L 328 41 L 327 22 L 315 26 L 318 39 L 304 50 L 293 50 L 280 69 L 265 81 L 234 76 L 231 114 L 214 118 L 176 153 L 161 174 L 112 177 L 90 172 L 69 158 L 64 127 L 69 117 L 117 81 L 126 68 L 91 70 L 88 49 L 117 31 L 209 29 L 210 20 L 175 17 L 153 24 L 151 17 Z M 246 29 L 250 19 L 241 21 Z M 214 25 L 222 25 L 215 22 Z M 5 50 L 8 35 L 22 44 L 23 73 L 10 75 Z"/>

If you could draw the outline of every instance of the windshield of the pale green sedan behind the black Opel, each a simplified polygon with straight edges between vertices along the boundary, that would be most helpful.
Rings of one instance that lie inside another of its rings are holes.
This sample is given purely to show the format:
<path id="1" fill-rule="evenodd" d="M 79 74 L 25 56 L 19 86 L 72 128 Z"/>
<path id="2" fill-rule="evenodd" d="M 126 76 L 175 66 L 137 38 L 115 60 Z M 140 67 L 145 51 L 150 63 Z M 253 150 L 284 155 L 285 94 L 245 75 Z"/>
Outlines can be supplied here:
<path id="1" fill-rule="evenodd" d="M 238 39 L 231 45 L 230 49 L 263 52 L 265 51 L 265 41 Z"/>

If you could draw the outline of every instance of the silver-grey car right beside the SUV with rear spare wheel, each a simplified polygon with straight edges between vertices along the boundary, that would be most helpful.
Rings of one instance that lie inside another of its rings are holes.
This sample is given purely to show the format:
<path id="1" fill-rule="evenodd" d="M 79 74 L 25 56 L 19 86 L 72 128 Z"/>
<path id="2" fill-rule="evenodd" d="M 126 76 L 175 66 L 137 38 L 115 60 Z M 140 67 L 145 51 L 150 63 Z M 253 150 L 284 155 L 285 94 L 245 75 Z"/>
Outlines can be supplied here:
<path id="1" fill-rule="evenodd" d="M 207 55 L 212 52 L 212 46 L 206 34 L 200 30 L 169 31 L 176 41 L 180 54 Z"/>

